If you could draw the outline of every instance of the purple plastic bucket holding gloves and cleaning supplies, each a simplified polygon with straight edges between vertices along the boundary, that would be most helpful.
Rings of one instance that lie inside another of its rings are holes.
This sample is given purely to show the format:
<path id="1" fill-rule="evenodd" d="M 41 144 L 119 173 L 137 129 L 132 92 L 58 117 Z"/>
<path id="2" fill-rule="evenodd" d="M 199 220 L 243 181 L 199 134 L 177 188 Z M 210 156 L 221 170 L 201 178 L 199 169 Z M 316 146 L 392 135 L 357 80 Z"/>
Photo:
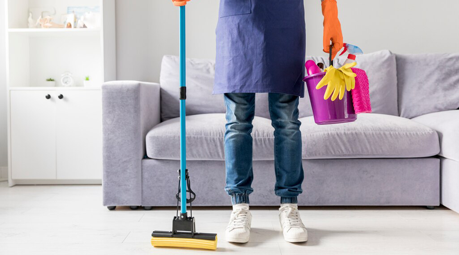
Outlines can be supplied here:
<path id="1" fill-rule="evenodd" d="M 342 100 L 324 100 L 326 86 L 316 89 L 317 84 L 324 78 L 325 72 L 306 76 L 303 81 L 308 88 L 309 99 L 314 114 L 314 121 L 319 125 L 354 122 L 357 120 L 352 102 L 352 93 L 346 91 Z"/>

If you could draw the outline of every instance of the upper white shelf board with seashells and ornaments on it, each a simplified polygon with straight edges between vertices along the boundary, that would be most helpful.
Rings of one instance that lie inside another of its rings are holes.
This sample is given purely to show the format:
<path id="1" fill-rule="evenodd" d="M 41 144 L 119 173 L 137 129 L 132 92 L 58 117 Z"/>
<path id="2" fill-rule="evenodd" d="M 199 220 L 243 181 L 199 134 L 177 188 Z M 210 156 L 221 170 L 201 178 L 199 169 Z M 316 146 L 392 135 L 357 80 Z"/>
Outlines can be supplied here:
<path id="1" fill-rule="evenodd" d="M 8 33 L 29 37 L 99 35 L 100 28 L 9 28 Z"/>

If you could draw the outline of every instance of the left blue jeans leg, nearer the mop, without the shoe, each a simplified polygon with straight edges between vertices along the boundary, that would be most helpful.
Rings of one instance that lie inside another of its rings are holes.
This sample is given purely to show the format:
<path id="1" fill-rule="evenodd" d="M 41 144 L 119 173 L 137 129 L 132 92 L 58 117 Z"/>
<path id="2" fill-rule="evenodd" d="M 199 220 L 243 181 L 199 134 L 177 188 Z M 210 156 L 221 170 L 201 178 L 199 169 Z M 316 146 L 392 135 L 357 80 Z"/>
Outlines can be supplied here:
<path id="1" fill-rule="evenodd" d="M 254 93 L 224 94 L 226 105 L 225 165 L 226 192 L 233 205 L 248 204 L 253 192 L 252 121 L 255 116 Z"/>

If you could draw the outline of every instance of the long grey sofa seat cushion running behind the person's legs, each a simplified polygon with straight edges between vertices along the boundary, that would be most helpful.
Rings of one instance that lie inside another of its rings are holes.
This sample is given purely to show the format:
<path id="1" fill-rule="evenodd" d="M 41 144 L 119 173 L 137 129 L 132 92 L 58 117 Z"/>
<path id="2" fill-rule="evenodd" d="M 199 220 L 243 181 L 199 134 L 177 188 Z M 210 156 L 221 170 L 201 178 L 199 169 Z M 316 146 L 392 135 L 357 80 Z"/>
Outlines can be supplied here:
<path id="1" fill-rule="evenodd" d="M 437 155 L 437 133 L 398 116 L 360 114 L 352 123 L 316 125 L 301 118 L 303 159 L 412 158 Z M 225 115 L 186 116 L 187 160 L 224 160 Z M 267 118 L 253 120 L 253 160 L 274 160 L 274 128 Z M 153 127 L 146 136 L 146 152 L 153 159 L 180 159 L 179 118 Z"/>

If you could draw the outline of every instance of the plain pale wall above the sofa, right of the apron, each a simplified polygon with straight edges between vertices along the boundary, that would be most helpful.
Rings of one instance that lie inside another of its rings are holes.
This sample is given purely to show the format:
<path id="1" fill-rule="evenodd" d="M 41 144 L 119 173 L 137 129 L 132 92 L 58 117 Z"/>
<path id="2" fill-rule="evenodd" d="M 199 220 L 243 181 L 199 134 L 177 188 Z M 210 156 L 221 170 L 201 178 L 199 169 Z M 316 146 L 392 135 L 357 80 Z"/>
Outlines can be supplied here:
<path id="1" fill-rule="evenodd" d="M 319 0 L 306 1 L 308 54 L 317 55 L 323 26 Z M 459 52 L 458 0 L 337 0 L 344 42 L 364 52 Z"/>

